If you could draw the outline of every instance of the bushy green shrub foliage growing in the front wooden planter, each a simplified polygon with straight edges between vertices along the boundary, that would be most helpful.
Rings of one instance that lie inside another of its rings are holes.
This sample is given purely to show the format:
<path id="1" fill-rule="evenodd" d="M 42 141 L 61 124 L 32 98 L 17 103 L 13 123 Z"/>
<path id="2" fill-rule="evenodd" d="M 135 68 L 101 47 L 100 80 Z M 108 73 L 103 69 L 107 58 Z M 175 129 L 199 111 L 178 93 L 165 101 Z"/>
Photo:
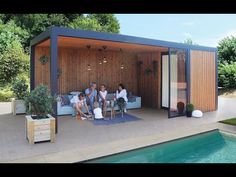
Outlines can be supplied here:
<path id="1" fill-rule="evenodd" d="M 55 100 L 47 86 L 39 85 L 25 98 L 26 110 L 36 115 L 37 119 L 46 118 L 47 114 L 53 112 L 52 104 Z"/>

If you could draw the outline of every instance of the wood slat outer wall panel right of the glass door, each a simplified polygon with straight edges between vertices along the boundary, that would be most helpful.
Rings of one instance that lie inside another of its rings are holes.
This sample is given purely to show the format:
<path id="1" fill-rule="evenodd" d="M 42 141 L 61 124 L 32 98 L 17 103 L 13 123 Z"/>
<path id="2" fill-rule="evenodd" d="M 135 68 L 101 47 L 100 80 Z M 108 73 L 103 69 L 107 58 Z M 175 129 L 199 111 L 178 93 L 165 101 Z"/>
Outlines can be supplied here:
<path id="1" fill-rule="evenodd" d="M 190 51 L 190 102 L 203 112 L 216 110 L 215 53 Z"/>

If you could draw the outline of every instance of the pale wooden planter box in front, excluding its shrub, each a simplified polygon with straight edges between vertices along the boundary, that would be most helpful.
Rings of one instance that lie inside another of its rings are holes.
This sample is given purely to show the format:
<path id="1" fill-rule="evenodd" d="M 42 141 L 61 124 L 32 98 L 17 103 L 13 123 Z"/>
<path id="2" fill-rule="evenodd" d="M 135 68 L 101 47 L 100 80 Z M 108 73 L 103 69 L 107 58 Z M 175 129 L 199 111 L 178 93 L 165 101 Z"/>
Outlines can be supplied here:
<path id="1" fill-rule="evenodd" d="M 55 118 L 48 114 L 46 119 L 32 119 L 31 115 L 25 116 L 26 138 L 30 144 L 42 141 L 55 142 Z"/>

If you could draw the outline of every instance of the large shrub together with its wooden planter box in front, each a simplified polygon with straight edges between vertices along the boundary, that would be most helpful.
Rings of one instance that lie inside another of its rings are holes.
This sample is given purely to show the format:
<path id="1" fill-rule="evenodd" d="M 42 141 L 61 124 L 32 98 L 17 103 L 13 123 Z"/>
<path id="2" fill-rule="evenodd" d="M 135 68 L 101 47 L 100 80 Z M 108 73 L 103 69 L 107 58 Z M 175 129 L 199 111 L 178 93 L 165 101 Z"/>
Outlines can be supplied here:
<path id="1" fill-rule="evenodd" d="M 55 142 L 55 118 L 52 104 L 56 99 L 47 86 L 39 85 L 25 98 L 27 113 L 26 137 L 30 144 L 40 141 Z"/>

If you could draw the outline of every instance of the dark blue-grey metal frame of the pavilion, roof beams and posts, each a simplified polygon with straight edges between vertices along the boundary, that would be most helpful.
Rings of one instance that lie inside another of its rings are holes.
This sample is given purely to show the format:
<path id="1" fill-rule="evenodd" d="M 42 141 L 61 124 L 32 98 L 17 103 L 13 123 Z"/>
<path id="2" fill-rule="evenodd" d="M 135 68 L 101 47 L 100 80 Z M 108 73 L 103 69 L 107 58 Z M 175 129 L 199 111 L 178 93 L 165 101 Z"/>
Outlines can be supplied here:
<path id="1" fill-rule="evenodd" d="M 33 40 L 30 42 L 31 46 L 31 53 L 30 53 L 30 66 L 31 66 L 31 78 L 30 78 L 30 86 L 31 90 L 34 89 L 35 86 L 35 47 L 37 44 L 47 40 L 50 38 L 51 40 L 51 46 L 50 46 L 50 69 L 51 69 L 51 76 L 50 76 L 50 84 L 51 84 L 51 91 L 52 94 L 57 93 L 57 38 L 58 36 L 65 36 L 65 37 L 74 37 L 74 38 L 84 38 L 84 39 L 95 39 L 95 40 L 103 40 L 103 41 L 114 41 L 114 42 L 120 42 L 120 43 L 129 43 L 129 44 L 139 44 L 139 45 L 149 45 L 149 46 L 158 46 L 158 47 L 166 47 L 168 49 L 170 48 L 178 48 L 178 49 L 187 49 L 187 54 L 189 58 L 189 51 L 190 50 L 202 50 L 202 51 L 212 51 L 217 52 L 216 48 L 213 47 L 206 47 L 206 46 L 199 46 L 199 45 L 189 45 L 189 44 L 183 44 L 183 43 L 176 43 L 176 42 L 168 42 L 168 41 L 162 41 L 162 40 L 154 40 L 154 39 L 147 39 L 147 38 L 141 38 L 141 37 L 134 37 L 134 36 L 127 36 L 127 35 L 120 35 L 120 34 L 111 34 L 111 33 L 104 33 L 104 32 L 95 32 L 95 31 L 87 31 L 87 30 L 77 30 L 77 29 L 69 29 L 69 28 L 63 28 L 63 27 L 50 27 L 46 31 L 42 32 L 38 36 L 36 36 Z M 170 57 L 170 56 L 169 56 Z M 188 59 L 189 60 L 189 59 Z M 188 67 L 190 67 L 190 62 L 188 61 Z M 216 64 L 217 68 L 217 64 Z M 187 77 L 188 82 L 190 82 L 190 71 L 187 70 Z M 217 73 L 217 70 L 216 70 Z M 216 80 L 217 80 L 217 74 L 216 74 Z M 187 82 L 187 84 L 188 84 Z M 170 86 L 170 85 L 169 85 Z M 217 87 L 217 83 L 216 83 Z M 189 89 L 189 86 L 188 86 Z M 218 94 L 218 92 L 217 92 Z M 169 98 L 170 99 L 170 98 Z M 189 94 L 188 94 L 188 101 L 189 101 Z M 217 102 L 217 98 L 216 98 Z M 53 107 L 55 114 L 57 113 L 57 108 L 54 105 Z M 57 126 L 57 115 L 55 115 L 56 118 L 56 130 L 58 128 Z"/>

